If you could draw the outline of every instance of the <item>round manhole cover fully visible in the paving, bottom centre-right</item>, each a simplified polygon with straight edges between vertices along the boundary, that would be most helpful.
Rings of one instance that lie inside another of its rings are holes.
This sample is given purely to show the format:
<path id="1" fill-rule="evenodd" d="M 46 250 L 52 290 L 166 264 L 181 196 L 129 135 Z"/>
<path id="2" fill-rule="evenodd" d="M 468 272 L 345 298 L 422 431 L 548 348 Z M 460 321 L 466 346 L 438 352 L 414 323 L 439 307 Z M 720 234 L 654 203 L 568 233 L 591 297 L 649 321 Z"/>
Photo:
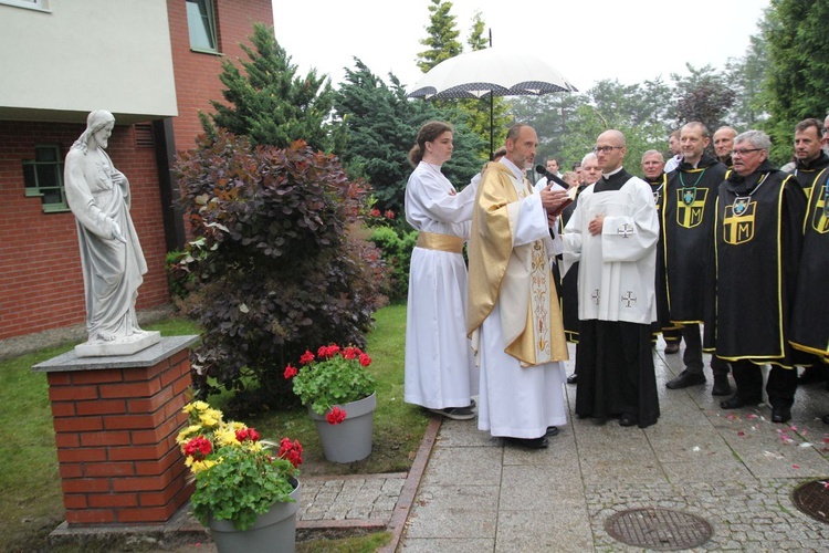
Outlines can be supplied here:
<path id="1" fill-rule="evenodd" d="M 657 551 L 686 550 L 711 538 L 705 519 L 671 509 L 633 509 L 610 517 L 605 530 L 628 545 Z"/>

